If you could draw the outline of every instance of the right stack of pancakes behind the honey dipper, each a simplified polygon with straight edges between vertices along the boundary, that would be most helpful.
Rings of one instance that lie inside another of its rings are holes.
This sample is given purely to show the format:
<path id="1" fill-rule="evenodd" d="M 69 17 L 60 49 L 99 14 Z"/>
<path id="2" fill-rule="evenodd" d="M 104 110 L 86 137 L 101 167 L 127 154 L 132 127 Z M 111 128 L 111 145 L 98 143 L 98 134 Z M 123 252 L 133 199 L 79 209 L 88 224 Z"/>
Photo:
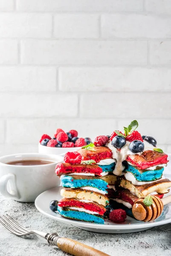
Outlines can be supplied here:
<path id="1" fill-rule="evenodd" d="M 162 175 L 167 157 L 165 153 L 151 150 L 128 155 L 124 175 L 119 178 L 119 187 L 111 196 L 113 201 L 125 206 L 128 215 L 132 216 L 131 209 L 138 198 L 149 194 L 162 198 L 168 193 L 171 181 Z"/>

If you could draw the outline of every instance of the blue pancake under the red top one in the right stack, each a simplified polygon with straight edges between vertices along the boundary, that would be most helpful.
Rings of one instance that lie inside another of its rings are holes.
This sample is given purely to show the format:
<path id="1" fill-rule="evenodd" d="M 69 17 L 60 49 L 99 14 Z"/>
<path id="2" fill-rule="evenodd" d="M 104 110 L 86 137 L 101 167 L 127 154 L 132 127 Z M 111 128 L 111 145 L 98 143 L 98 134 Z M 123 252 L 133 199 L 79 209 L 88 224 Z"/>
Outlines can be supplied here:
<path id="1" fill-rule="evenodd" d="M 134 175 L 138 181 L 154 181 L 159 180 L 162 177 L 164 168 L 157 166 L 155 170 L 141 170 L 128 164 L 128 167 L 125 169 L 125 172 L 130 172 Z"/>

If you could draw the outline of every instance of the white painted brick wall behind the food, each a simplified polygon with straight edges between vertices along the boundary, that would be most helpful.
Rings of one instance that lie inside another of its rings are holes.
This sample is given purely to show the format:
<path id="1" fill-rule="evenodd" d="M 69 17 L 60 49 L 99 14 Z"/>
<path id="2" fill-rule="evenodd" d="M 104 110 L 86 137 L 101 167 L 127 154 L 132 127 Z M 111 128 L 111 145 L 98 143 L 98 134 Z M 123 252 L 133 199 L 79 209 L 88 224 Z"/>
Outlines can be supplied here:
<path id="1" fill-rule="evenodd" d="M 0 155 L 132 119 L 171 152 L 170 0 L 0 0 Z"/>

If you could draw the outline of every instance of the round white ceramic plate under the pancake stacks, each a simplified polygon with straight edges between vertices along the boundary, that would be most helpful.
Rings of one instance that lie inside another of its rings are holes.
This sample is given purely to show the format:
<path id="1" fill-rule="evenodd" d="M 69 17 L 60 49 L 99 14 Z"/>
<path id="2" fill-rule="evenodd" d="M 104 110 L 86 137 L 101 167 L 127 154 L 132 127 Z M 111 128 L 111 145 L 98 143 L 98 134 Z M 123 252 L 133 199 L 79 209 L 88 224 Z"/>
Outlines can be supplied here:
<path id="1" fill-rule="evenodd" d="M 155 221 L 142 222 L 136 221 L 133 218 L 127 216 L 123 224 L 115 224 L 111 221 L 105 221 L 105 224 L 94 224 L 83 221 L 74 221 L 61 217 L 58 212 L 52 212 L 49 209 L 49 203 L 52 200 L 59 200 L 61 198 L 60 191 L 62 187 L 49 189 L 39 195 L 35 200 L 35 207 L 39 212 L 43 213 L 49 218 L 56 221 L 61 221 L 66 224 L 72 224 L 75 227 L 79 227 L 84 230 L 99 232 L 99 233 L 132 233 L 147 230 L 151 227 L 167 224 L 171 222 L 171 204 L 166 205 L 162 212 L 162 215 Z"/>

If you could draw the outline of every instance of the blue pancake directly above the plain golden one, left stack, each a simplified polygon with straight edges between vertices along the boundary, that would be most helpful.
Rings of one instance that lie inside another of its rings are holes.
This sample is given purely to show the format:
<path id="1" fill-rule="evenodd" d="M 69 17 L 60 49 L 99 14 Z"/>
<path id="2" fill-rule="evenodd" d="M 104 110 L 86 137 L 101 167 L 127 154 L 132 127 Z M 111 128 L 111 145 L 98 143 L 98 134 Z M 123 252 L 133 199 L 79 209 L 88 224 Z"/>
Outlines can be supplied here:
<path id="1" fill-rule="evenodd" d="M 107 193 L 108 183 L 98 177 L 81 176 L 80 175 L 65 175 L 61 178 L 62 186 L 64 188 L 81 188 L 85 186 L 93 187 Z"/>

